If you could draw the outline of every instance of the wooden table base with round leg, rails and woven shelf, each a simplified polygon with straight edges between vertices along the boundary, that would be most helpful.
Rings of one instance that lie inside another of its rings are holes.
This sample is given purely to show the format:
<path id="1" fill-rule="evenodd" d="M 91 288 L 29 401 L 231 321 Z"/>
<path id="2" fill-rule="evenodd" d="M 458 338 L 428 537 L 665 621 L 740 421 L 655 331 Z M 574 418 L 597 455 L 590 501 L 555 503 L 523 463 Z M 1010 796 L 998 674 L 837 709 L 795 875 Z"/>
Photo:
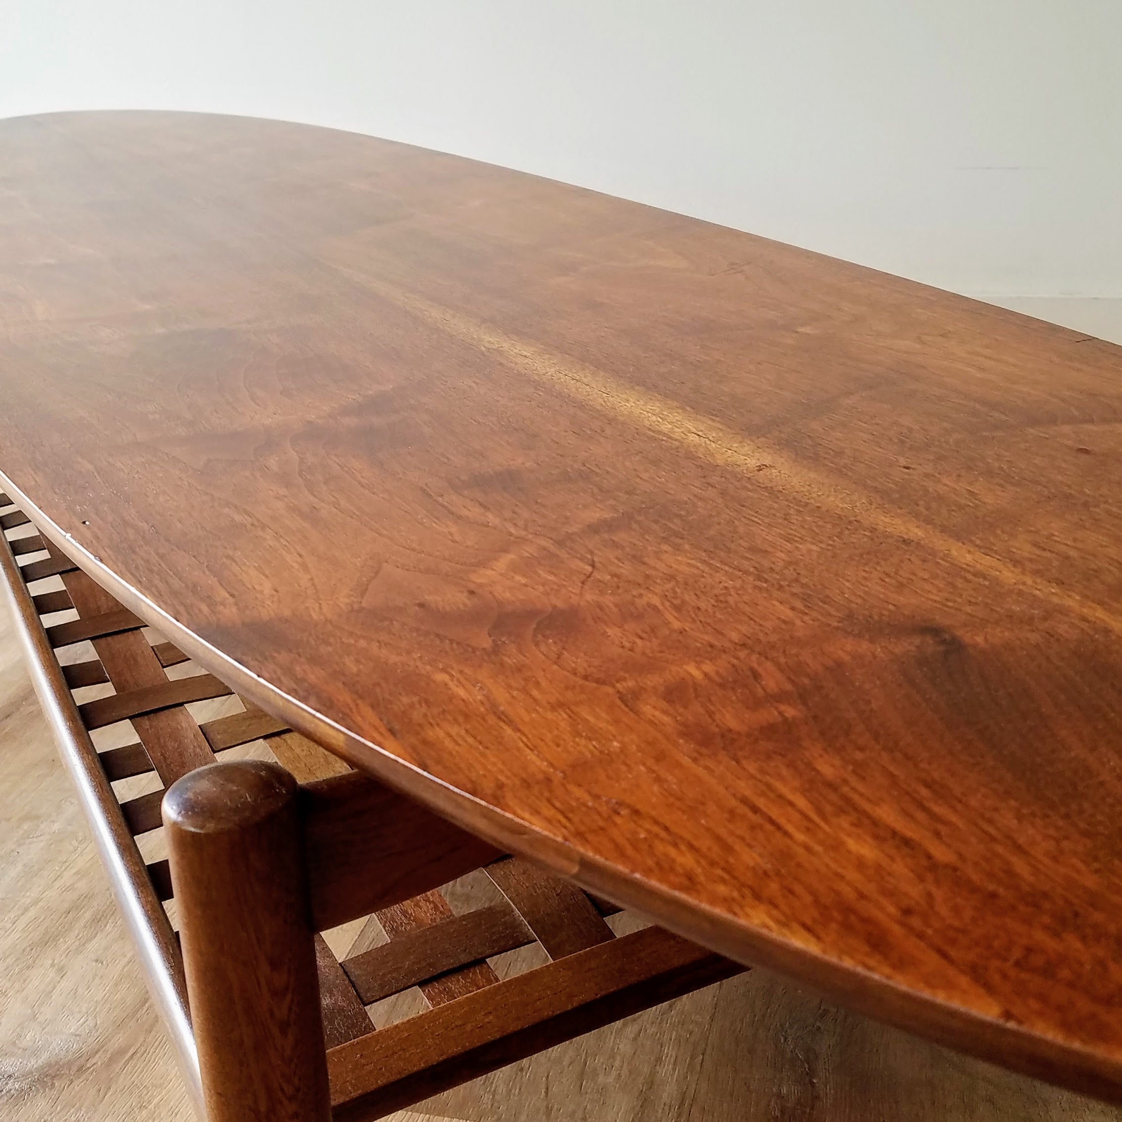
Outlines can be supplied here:
<path id="1" fill-rule="evenodd" d="M 743 969 L 659 928 L 617 937 L 618 908 L 243 699 L 196 720 L 188 707 L 232 690 L 11 506 L 0 567 L 36 691 L 209 1122 L 378 1118 Z M 99 751 L 91 733 L 125 721 L 136 742 Z M 273 758 L 229 758 L 254 745 Z M 153 789 L 119 793 L 138 776 Z M 160 829 L 168 858 L 146 862 L 137 838 Z M 485 899 L 453 908 L 466 874 Z M 321 932 L 360 919 L 337 955 Z M 497 956 L 528 946 L 544 964 L 500 977 Z M 414 987 L 422 1012 L 376 1027 L 370 1010 Z"/>

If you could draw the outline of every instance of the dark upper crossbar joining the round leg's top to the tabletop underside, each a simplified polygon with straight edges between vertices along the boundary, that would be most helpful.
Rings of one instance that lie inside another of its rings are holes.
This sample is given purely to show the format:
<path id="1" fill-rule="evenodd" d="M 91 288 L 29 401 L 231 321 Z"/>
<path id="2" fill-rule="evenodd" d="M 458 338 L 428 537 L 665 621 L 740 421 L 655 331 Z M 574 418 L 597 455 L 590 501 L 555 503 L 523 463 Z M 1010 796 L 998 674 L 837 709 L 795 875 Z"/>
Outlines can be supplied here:
<path id="1" fill-rule="evenodd" d="M 318 931 L 447 884 L 502 850 L 359 772 L 302 789 Z"/>

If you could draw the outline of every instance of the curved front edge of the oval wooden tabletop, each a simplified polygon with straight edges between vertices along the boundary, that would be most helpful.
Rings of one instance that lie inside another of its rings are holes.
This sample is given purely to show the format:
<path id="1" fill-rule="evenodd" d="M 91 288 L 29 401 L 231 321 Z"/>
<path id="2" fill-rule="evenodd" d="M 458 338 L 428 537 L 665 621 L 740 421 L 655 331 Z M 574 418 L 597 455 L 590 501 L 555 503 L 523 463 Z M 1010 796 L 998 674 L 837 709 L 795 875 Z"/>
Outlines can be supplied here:
<path id="1" fill-rule="evenodd" d="M 285 693 L 181 624 L 49 518 L 2 470 L 0 489 L 28 515 L 44 537 L 91 579 L 205 670 L 303 736 L 457 826 L 746 966 L 763 966 L 804 982 L 849 1009 L 946 1047 L 1058 1086 L 1122 1103 L 1122 1060 L 941 1001 L 716 912 L 679 892 L 583 854 L 407 763 L 389 748 L 350 732 Z M 387 743 L 393 743 L 388 735 Z"/>

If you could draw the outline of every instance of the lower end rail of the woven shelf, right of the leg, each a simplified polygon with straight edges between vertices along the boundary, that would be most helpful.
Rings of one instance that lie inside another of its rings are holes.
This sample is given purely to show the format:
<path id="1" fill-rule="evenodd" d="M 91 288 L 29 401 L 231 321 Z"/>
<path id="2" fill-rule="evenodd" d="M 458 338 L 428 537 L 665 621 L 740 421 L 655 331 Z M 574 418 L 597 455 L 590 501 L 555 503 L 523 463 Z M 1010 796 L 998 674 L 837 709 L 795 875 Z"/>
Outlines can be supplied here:
<path id="1" fill-rule="evenodd" d="M 661 928 L 567 955 L 328 1052 L 334 1122 L 359 1122 L 738 974 Z"/>

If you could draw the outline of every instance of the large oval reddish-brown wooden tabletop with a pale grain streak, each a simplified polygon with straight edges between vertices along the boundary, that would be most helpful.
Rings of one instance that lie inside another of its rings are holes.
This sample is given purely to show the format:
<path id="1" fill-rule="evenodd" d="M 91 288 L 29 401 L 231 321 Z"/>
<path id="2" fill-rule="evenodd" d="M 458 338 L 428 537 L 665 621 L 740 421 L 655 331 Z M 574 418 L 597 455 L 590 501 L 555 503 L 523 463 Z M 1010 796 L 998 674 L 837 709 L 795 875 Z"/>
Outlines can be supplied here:
<path id="1" fill-rule="evenodd" d="M 267 708 L 726 954 L 1122 1095 L 1122 349 L 172 113 L 0 122 L 0 338 L 13 497 Z"/>

